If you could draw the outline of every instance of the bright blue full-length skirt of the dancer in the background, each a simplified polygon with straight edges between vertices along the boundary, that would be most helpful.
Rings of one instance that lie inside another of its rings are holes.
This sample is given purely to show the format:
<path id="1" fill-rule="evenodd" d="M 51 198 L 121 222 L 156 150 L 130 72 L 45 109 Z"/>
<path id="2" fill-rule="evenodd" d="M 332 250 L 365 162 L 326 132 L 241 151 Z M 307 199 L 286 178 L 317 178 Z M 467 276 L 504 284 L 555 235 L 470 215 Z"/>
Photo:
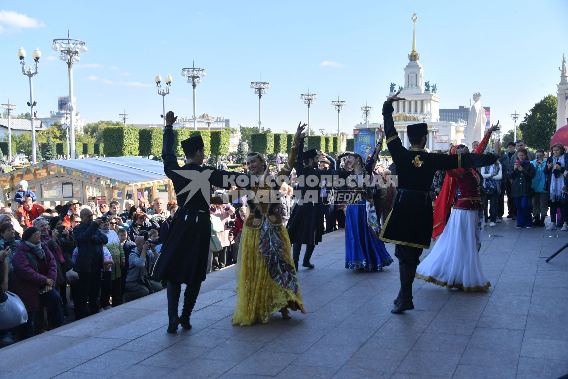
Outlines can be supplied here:
<path id="1" fill-rule="evenodd" d="M 385 243 L 373 236 L 367 224 L 365 200 L 348 205 L 345 214 L 345 268 L 379 272 L 391 263 Z"/>

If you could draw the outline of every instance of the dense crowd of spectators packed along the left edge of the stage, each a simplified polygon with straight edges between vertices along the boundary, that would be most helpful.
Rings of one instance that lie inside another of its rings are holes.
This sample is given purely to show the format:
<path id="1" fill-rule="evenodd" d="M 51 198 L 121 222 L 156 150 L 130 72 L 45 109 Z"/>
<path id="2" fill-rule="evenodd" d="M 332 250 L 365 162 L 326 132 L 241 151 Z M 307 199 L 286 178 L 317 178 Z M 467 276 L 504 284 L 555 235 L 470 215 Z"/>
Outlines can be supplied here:
<path id="1" fill-rule="evenodd" d="M 162 289 L 152 266 L 178 209 L 175 200 L 77 199 L 47 208 L 25 181 L 15 211 L 0 203 L 0 302 L 20 297 L 28 321 L 0 330 L 0 347 Z"/>

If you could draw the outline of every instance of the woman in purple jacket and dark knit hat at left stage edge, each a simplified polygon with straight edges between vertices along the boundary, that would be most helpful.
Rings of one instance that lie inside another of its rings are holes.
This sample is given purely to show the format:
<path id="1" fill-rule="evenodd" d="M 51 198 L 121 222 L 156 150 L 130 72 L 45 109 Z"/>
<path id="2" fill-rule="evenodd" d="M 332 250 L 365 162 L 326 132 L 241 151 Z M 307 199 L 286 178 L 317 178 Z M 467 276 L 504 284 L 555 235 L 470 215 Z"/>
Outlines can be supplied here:
<path id="1" fill-rule="evenodd" d="M 14 273 L 10 280 L 10 289 L 22 299 L 28 312 L 28 322 L 20 325 L 20 340 L 30 338 L 34 333 L 35 313 L 40 305 L 47 307 L 53 319 L 53 328 L 65 323 L 61 296 L 54 289 L 57 276 L 55 257 L 47 245 L 41 241 L 40 231 L 36 227 L 24 230 L 22 242 L 16 247 Z"/>

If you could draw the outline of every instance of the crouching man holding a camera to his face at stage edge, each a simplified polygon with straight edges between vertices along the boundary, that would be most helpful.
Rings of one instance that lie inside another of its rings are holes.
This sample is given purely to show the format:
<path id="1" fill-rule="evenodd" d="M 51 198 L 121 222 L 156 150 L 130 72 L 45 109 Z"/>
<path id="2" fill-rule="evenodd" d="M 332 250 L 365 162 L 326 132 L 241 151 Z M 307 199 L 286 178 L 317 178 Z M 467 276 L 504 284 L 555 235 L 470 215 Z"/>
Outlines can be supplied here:
<path id="1" fill-rule="evenodd" d="M 160 283 L 150 280 L 149 276 L 160 239 L 145 240 L 144 236 L 137 236 L 135 243 L 136 248 L 128 256 L 128 276 L 123 296 L 125 303 L 163 289 Z"/>

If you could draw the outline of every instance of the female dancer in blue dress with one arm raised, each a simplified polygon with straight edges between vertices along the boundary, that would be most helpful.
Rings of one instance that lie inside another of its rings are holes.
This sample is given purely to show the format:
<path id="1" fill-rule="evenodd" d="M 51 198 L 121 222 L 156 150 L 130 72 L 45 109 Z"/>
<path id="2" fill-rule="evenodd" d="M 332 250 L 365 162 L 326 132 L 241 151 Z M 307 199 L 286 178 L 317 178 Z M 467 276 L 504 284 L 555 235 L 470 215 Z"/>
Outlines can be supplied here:
<path id="1" fill-rule="evenodd" d="M 379 222 L 370 191 L 370 174 L 373 173 L 382 142 L 381 138 L 367 164 L 357 153 L 350 154 L 345 161 L 351 171 L 347 186 L 354 195 L 345 214 L 345 268 L 378 272 L 392 263 L 385 244 L 379 240 Z"/>

